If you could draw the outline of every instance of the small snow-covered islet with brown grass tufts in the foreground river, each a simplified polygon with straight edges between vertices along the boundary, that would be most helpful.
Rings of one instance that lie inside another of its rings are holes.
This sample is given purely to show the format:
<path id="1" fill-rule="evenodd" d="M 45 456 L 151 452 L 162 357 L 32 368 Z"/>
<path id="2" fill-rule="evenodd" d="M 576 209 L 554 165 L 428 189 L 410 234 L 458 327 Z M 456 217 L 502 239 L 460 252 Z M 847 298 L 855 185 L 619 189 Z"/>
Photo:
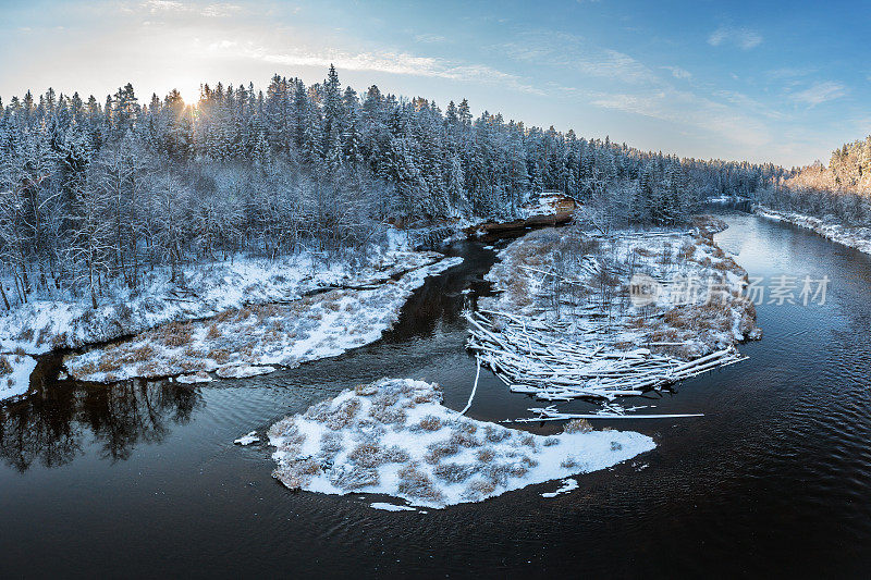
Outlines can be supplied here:
<path id="1" fill-rule="evenodd" d="M 273 476 L 292 490 L 380 493 L 440 508 L 604 469 L 655 446 L 640 433 L 588 428 L 535 435 L 441 403 L 438 385 L 410 379 L 344 391 L 270 428 Z"/>

